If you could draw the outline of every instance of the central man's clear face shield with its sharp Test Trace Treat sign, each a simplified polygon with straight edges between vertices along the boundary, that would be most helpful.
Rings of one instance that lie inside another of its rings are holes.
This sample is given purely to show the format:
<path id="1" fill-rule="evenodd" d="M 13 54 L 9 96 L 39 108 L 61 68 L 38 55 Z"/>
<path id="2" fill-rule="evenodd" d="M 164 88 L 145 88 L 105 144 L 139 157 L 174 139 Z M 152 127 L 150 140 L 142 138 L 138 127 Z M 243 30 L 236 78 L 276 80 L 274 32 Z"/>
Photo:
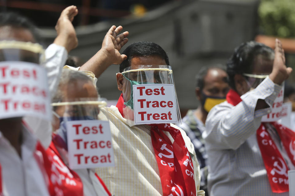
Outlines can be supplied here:
<path id="1" fill-rule="evenodd" d="M 130 125 L 181 123 L 171 66 L 124 69 L 123 114 Z"/>

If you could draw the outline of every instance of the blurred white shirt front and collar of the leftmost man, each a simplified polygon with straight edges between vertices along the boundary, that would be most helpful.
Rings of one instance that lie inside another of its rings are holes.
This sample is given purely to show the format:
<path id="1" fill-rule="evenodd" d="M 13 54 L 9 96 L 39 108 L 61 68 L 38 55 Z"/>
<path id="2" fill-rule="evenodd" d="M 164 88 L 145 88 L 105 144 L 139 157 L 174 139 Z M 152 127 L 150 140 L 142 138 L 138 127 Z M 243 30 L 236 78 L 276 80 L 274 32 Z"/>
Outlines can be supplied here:
<path id="1" fill-rule="evenodd" d="M 0 132 L 0 164 L 4 196 L 47 196 L 48 187 L 34 157 L 37 139 L 22 130 L 22 157 Z"/>

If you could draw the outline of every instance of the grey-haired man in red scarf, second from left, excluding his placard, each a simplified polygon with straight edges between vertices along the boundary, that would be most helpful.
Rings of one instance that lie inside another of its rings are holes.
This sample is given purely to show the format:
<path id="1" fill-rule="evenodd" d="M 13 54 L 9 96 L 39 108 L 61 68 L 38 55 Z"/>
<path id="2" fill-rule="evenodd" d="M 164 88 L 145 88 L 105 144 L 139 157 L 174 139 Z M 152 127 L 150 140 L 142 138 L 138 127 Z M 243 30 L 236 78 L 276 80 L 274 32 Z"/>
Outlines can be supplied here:
<path id="1" fill-rule="evenodd" d="M 87 102 L 92 102 L 88 105 Z M 94 105 L 95 104 L 95 105 Z M 69 167 L 68 137 L 66 123 L 69 121 L 97 120 L 98 94 L 93 81 L 79 71 L 64 69 L 56 94 L 53 97 L 53 139 L 47 153 L 60 173 L 59 189 L 63 195 L 111 196 L 95 169 Z M 69 179 L 72 183 L 67 183 Z M 74 183 L 73 183 L 74 182 Z"/>

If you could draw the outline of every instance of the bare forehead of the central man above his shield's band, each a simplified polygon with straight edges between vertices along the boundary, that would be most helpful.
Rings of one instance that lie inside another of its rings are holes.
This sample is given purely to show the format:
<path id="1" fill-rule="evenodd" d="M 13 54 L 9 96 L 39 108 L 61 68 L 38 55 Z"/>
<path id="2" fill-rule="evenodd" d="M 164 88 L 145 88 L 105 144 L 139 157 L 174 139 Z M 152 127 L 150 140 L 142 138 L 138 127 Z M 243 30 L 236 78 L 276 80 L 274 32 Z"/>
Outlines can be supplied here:
<path id="1" fill-rule="evenodd" d="M 138 65 L 166 65 L 166 62 L 159 56 L 135 56 L 130 64 L 131 68 L 134 67 L 136 69 Z"/>

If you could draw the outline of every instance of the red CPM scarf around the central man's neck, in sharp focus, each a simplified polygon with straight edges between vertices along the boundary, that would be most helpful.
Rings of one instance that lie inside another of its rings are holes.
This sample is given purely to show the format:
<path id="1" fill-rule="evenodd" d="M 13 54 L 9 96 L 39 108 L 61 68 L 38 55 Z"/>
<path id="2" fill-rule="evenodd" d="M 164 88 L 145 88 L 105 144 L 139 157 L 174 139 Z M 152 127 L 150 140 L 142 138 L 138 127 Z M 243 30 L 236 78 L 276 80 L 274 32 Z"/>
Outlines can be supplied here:
<path id="1" fill-rule="evenodd" d="M 122 94 L 116 107 L 124 117 Z M 171 134 L 173 143 L 163 131 Z M 163 196 L 196 196 L 194 166 L 180 131 L 170 124 L 152 124 L 151 142 L 159 167 Z"/>

